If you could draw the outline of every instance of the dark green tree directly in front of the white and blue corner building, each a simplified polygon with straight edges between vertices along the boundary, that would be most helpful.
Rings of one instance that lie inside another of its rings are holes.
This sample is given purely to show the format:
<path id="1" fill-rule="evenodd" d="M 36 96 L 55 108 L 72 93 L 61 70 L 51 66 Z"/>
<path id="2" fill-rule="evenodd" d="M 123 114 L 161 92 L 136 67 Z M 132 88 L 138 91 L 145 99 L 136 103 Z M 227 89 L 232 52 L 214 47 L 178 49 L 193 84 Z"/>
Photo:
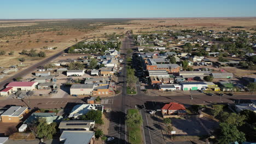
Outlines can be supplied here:
<path id="1" fill-rule="evenodd" d="M 97 123 L 97 124 L 103 124 L 102 112 L 99 111 L 99 110 L 97 110 L 97 111 L 96 110 L 90 110 L 85 115 L 80 116 L 79 119 L 82 119 L 82 120 L 94 120 L 95 123 Z"/>

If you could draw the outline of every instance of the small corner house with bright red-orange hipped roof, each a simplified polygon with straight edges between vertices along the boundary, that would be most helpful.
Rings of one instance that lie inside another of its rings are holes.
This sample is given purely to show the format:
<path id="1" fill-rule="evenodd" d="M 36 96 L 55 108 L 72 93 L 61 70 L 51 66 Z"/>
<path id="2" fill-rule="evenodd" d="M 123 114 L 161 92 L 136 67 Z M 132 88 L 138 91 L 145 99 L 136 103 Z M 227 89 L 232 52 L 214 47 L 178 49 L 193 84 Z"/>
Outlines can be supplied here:
<path id="1" fill-rule="evenodd" d="M 182 104 L 169 103 L 165 104 L 161 109 L 162 115 L 186 115 L 186 108 Z"/>

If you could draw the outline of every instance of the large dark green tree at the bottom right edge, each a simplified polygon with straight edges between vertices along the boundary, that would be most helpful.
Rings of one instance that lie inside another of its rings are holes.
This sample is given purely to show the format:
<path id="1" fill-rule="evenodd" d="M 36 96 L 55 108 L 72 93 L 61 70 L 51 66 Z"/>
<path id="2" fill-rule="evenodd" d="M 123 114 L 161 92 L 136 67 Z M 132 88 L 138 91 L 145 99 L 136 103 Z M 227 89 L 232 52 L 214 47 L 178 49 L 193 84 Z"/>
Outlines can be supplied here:
<path id="1" fill-rule="evenodd" d="M 219 144 L 226 144 L 231 142 L 245 142 L 245 134 L 240 132 L 236 125 L 228 124 L 228 123 L 220 123 L 220 133 L 218 136 Z"/>

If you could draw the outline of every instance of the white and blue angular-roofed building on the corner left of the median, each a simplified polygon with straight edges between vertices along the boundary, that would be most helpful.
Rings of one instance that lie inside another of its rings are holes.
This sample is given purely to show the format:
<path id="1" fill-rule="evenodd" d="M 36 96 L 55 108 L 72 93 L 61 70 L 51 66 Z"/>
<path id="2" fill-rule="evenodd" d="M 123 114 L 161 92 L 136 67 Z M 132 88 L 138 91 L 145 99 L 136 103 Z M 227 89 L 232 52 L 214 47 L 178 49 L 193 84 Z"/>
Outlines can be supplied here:
<path id="1" fill-rule="evenodd" d="M 85 115 L 88 113 L 90 110 L 99 110 L 103 112 L 104 106 L 103 105 L 98 105 L 98 104 L 80 104 L 80 105 L 75 105 L 72 109 L 72 111 L 69 114 L 69 118 L 78 118 L 81 115 Z"/>

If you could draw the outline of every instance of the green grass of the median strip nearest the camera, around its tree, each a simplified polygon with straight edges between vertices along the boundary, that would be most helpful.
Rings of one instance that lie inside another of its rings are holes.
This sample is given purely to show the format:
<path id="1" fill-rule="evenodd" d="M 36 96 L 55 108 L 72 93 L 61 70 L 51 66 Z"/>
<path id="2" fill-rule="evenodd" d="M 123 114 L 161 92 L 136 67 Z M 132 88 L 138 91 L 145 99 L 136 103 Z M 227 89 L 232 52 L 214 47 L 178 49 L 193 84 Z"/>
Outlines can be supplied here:
<path id="1" fill-rule="evenodd" d="M 127 114 L 129 113 L 139 113 L 137 109 L 129 109 L 127 110 Z M 133 125 L 132 127 L 128 127 L 128 141 L 131 144 L 139 144 L 142 143 L 142 135 L 141 135 L 141 126 Z"/>

